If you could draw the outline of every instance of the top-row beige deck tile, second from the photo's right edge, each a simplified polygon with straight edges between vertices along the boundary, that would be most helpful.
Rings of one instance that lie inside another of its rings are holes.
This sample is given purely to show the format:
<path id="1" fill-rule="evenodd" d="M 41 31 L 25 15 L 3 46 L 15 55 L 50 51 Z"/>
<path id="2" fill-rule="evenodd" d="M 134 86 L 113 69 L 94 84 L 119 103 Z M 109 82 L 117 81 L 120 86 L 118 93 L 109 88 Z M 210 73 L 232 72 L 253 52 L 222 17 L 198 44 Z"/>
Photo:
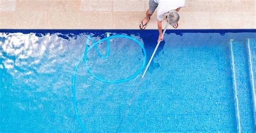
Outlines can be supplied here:
<path id="1" fill-rule="evenodd" d="M 211 0 L 210 11 L 241 11 L 240 0 Z"/>

